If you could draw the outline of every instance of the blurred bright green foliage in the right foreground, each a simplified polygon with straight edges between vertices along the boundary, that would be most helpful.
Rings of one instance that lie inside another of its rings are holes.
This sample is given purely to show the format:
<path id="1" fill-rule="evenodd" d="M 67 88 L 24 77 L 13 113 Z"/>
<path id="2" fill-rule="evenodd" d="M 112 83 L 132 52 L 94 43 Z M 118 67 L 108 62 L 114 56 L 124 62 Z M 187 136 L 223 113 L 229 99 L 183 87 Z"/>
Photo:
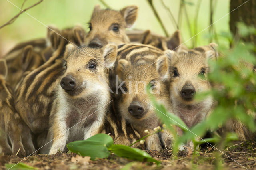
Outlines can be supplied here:
<path id="1" fill-rule="evenodd" d="M 217 102 L 213 112 L 205 121 L 188 129 L 184 123 L 180 123 L 180 118 L 173 113 L 168 113 L 164 106 L 156 103 L 154 98 L 152 99 L 156 113 L 172 133 L 175 130 L 172 125 L 184 130 L 183 136 L 174 135 L 174 154 L 176 154 L 178 146 L 188 140 L 194 142 L 195 148 L 198 144 L 206 142 L 228 144 L 230 141 L 237 140 L 235 134 L 226 132 L 224 136 L 213 136 L 213 138 L 196 141 L 196 138 L 202 138 L 208 130 L 214 131 L 224 127 L 230 120 L 239 121 L 248 128 L 248 132 L 255 132 L 256 74 L 253 71 L 253 63 L 256 63 L 256 47 L 250 43 L 242 42 L 241 39 L 251 33 L 256 34 L 256 28 L 238 23 L 238 30 L 240 38 L 238 38 L 238 42 L 234 43 L 233 48 L 228 49 L 220 45 L 221 56 L 216 61 L 209 61 L 211 72 L 207 78 L 213 83 L 212 90 L 196 95 L 197 100 L 203 100 L 207 95 L 212 95 Z M 235 131 L 236 128 L 238 127 L 234 126 L 232 130 Z"/>

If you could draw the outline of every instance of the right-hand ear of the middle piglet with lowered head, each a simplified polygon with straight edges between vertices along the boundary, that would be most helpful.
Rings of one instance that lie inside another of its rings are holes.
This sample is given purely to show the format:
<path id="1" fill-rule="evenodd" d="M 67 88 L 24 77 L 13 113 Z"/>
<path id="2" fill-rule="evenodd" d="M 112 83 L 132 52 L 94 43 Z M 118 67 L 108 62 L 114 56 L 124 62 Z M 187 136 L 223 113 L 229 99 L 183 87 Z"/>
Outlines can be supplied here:
<path id="1" fill-rule="evenodd" d="M 160 79 L 163 81 L 167 80 L 169 77 L 168 66 L 168 59 L 165 55 L 158 57 L 158 59 L 156 59 L 156 69 L 160 75 Z"/>

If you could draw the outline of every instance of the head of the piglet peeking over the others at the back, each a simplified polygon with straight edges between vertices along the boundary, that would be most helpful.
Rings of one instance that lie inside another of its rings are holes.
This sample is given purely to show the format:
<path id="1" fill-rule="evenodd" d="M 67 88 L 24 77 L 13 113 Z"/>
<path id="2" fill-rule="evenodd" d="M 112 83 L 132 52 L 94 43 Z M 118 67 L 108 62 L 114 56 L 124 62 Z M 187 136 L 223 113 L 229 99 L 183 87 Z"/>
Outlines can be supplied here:
<path id="1" fill-rule="evenodd" d="M 89 22 L 90 31 L 86 34 L 85 44 L 102 47 L 108 43 L 121 45 L 130 42 L 125 28 L 131 27 L 137 18 L 138 7 L 127 6 L 120 11 L 100 9 L 95 6 Z"/>

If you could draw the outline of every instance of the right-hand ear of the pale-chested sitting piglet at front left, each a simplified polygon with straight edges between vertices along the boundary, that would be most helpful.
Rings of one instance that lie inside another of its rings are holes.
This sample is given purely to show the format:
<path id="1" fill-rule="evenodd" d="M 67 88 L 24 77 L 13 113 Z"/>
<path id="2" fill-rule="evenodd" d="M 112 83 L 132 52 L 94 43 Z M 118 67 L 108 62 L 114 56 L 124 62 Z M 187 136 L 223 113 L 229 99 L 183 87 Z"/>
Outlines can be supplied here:
<path id="1" fill-rule="evenodd" d="M 103 57 L 108 68 L 114 67 L 117 56 L 117 47 L 114 44 L 108 44 L 103 47 Z"/>

